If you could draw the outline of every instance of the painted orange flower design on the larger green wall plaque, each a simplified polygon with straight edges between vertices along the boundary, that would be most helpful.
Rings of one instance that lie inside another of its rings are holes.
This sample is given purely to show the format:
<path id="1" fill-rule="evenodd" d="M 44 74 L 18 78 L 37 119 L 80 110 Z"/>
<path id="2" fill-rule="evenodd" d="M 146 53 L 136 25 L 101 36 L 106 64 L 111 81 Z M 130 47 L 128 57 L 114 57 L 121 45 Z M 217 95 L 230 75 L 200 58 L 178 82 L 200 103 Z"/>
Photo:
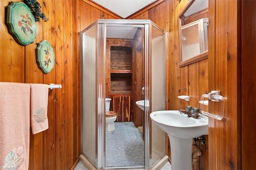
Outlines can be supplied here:
<path id="1" fill-rule="evenodd" d="M 30 32 L 31 35 L 33 35 L 34 31 L 31 29 L 32 19 L 29 17 L 28 14 L 26 14 L 26 16 L 21 14 L 20 17 L 21 20 L 18 21 L 18 26 L 21 27 L 21 30 L 24 32 L 26 36 L 28 36 L 28 32 Z"/>

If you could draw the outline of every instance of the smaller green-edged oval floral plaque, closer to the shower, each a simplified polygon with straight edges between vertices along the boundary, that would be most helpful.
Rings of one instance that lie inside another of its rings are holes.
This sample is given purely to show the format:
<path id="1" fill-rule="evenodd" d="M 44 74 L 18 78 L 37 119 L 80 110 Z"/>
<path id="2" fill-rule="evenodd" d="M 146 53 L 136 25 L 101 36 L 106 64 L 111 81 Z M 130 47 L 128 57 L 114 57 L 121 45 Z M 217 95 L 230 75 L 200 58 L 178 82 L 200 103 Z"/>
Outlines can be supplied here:
<path id="1" fill-rule="evenodd" d="M 55 64 L 54 51 L 46 40 L 38 43 L 36 47 L 36 63 L 45 74 L 49 73 Z"/>

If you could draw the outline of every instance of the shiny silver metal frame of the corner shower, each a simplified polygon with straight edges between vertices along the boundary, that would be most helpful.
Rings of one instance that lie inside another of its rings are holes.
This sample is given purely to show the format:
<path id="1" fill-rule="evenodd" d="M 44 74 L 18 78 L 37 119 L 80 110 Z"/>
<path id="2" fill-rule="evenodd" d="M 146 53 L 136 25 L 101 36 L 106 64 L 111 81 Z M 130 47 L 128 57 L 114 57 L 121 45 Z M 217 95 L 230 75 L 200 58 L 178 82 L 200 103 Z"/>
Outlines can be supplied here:
<path id="1" fill-rule="evenodd" d="M 81 31 L 81 37 L 82 33 L 84 31 L 90 29 L 93 25 L 96 25 L 96 163 L 93 163 L 93 166 L 96 166 L 96 168 L 103 168 L 103 169 L 110 169 L 110 168 L 136 168 L 136 166 L 125 166 L 125 167 L 106 167 L 106 143 L 105 143 L 105 84 L 106 84 L 106 27 L 107 25 L 122 25 L 124 26 L 126 24 L 127 26 L 134 25 L 144 25 L 144 55 L 145 55 L 145 66 L 144 66 L 144 78 L 145 78 L 145 103 L 149 103 L 151 105 L 151 70 L 150 70 L 150 64 L 151 58 L 150 58 L 150 48 L 152 48 L 150 45 L 150 27 L 154 25 L 154 27 L 161 30 L 165 36 L 166 31 L 158 27 L 156 24 L 154 24 L 150 20 L 97 20 L 96 22 L 92 23 L 89 27 Z M 165 38 L 166 40 L 166 38 Z M 166 43 L 166 42 L 165 42 Z M 81 39 L 82 44 L 82 39 Z M 81 53 L 81 56 L 83 54 Z M 166 56 L 165 56 L 166 57 Z M 82 57 L 81 57 L 82 58 Z M 100 71 L 98 71 L 97 68 L 102 68 Z M 82 69 L 81 69 L 82 70 Z M 82 74 L 81 74 L 82 75 Z M 81 78 L 82 80 L 82 78 Z M 159 158 L 156 162 L 152 164 L 152 152 L 150 151 L 152 147 L 151 141 L 150 141 L 150 111 L 151 108 L 145 107 L 145 138 L 144 138 L 144 168 L 145 169 L 151 169 L 153 168 L 158 162 L 160 162 L 165 155 Z M 85 156 L 83 154 L 83 156 Z M 86 158 L 88 158 L 86 156 Z M 90 158 L 88 159 L 90 162 Z M 92 163 L 92 162 L 91 162 Z"/>

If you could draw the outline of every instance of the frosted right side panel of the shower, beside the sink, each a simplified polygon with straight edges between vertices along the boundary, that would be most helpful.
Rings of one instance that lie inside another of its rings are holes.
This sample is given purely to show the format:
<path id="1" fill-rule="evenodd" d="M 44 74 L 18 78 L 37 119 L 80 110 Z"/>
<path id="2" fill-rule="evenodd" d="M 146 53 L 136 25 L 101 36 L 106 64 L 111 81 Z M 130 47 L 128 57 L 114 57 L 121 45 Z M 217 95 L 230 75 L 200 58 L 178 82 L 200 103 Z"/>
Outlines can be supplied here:
<path id="1" fill-rule="evenodd" d="M 151 112 L 166 109 L 166 34 L 150 24 Z M 160 140 L 161 139 L 161 140 Z M 151 167 L 166 155 L 166 134 L 151 123 Z"/>

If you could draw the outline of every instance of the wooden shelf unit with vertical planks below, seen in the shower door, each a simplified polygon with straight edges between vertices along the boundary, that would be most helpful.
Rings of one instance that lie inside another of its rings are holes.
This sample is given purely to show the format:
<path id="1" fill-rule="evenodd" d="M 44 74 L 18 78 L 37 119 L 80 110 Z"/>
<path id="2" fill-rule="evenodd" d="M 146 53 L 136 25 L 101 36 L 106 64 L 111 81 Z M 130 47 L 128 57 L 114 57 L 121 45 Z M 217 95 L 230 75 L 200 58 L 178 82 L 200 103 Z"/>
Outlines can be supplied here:
<path id="1" fill-rule="evenodd" d="M 112 99 L 110 110 L 117 122 L 132 121 L 133 42 L 130 39 L 107 39 L 106 97 Z"/>

